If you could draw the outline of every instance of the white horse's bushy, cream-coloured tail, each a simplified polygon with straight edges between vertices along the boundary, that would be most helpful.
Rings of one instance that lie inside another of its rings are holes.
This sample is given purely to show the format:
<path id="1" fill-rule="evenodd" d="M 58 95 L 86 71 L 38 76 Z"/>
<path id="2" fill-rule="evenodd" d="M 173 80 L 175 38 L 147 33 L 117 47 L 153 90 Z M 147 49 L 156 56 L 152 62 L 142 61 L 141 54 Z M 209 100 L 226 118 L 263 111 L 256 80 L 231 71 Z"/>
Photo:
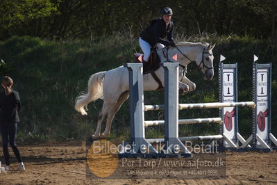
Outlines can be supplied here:
<path id="1" fill-rule="evenodd" d="M 87 115 L 87 104 L 103 97 L 103 79 L 106 72 L 92 74 L 88 81 L 87 93 L 76 97 L 75 109 L 82 115 Z"/>

